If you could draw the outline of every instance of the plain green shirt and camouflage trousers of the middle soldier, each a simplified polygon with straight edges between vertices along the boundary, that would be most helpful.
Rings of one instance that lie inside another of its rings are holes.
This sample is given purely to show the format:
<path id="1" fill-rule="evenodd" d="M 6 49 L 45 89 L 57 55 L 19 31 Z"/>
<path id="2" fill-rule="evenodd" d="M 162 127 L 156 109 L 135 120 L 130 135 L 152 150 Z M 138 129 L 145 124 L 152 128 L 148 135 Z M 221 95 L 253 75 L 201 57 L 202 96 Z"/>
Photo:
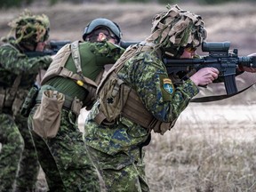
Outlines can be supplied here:
<path id="1" fill-rule="evenodd" d="M 104 41 L 102 43 L 79 43 L 79 52 L 83 75 L 95 81 L 104 65 L 114 63 L 124 50 L 119 46 Z M 55 58 L 58 58 L 59 55 L 60 52 L 55 55 Z M 54 59 L 52 63 L 54 63 Z M 65 64 L 65 68 L 76 73 L 76 67 L 71 55 Z M 49 69 L 51 69 L 51 66 Z M 45 76 L 47 76 L 47 72 Z M 65 98 L 76 97 L 81 101 L 84 101 L 88 95 L 88 91 L 84 87 L 65 76 L 52 76 L 45 82 L 43 79 L 39 94 L 46 89 L 57 90 L 65 94 Z M 40 103 L 41 100 L 36 102 Z M 70 108 L 61 108 L 60 128 L 57 135 L 53 138 L 43 138 L 33 131 L 35 127 L 33 127 L 32 122 L 36 108 L 38 108 L 37 104 L 28 117 L 28 125 L 31 129 L 37 155 L 45 172 L 49 188 L 55 191 L 100 191 L 100 180 L 84 148 L 82 132 L 79 131 L 76 124 L 77 115 Z M 47 150 L 52 154 L 52 164 L 44 156 Z"/>

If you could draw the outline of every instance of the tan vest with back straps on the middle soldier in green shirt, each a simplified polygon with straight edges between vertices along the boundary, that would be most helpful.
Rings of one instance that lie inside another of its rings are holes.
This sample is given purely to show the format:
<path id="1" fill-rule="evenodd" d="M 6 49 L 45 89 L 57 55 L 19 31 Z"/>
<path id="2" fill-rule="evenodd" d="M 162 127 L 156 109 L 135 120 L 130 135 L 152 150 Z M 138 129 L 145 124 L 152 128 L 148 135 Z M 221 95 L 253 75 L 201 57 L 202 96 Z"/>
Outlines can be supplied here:
<path id="1" fill-rule="evenodd" d="M 70 71 L 68 68 L 65 68 L 65 64 L 70 56 L 72 55 L 72 59 L 74 60 L 76 66 L 76 73 Z M 66 78 L 70 78 L 76 82 L 76 84 L 84 87 L 88 91 L 88 95 L 84 100 L 83 105 L 89 106 L 92 104 L 93 100 L 95 100 L 95 92 L 100 83 L 101 76 L 104 70 L 97 76 L 95 82 L 92 79 L 83 75 L 81 68 L 81 59 L 79 54 L 79 42 L 76 41 L 72 44 L 66 44 L 63 46 L 58 54 L 54 57 L 50 67 L 47 69 L 41 84 L 44 85 L 49 79 L 54 76 L 63 76 Z"/>

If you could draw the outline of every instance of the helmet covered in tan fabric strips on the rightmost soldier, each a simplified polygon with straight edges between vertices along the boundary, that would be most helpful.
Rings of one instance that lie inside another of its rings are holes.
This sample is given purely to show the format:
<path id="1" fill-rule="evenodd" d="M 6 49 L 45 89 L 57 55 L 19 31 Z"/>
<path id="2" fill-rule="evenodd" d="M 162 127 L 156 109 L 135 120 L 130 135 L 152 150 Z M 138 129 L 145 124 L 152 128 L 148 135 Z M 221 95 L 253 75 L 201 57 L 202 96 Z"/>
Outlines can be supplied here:
<path id="1" fill-rule="evenodd" d="M 167 12 L 156 14 L 153 19 L 151 35 L 147 41 L 168 50 L 177 56 L 180 48 L 198 47 L 206 38 L 204 21 L 201 16 L 181 10 L 178 5 L 167 5 Z"/>

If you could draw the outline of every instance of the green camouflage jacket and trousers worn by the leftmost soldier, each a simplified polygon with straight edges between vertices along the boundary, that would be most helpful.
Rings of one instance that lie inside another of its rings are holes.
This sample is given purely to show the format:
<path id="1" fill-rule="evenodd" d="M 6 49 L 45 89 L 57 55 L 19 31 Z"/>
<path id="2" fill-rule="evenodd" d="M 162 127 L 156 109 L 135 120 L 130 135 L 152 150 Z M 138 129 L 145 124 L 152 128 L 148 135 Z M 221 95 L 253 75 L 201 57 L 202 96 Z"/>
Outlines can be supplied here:
<path id="1" fill-rule="evenodd" d="M 15 80 L 16 76 L 22 75 L 20 80 L 19 88 L 28 91 L 31 85 L 34 84 L 36 79 L 36 75 L 38 73 L 38 68 L 45 68 L 51 63 L 52 59 L 50 57 L 38 57 L 38 58 L 28 58 L 22 52 L 19 52 L 13 49 L 9 45 L 2 45 L 0 47 L 0 63 L 1 63 L 1 88 L 10 88 L 12 87 L 12 83 Z M 21 100 L 25 99 L 26 95 L 23 95 Z M 38 164 L 36 162 L 36 152 L 33 146 L 33 142 L 30 138 L 30 133 L 28 132 L 27 118 L 20 116 L 19 114 L 16 116 L 12 116 L 12 107 L 4 107 L 1 112 L 1 143 L 3 144 L 3 148 L 1 151 L 1 161 L 0 161 L 0 169 L 6 167 L 2 163 L 4 163 L 4 148 L 7 148 L 9 144 L 16 145 L 18 148 L 23 148 L 22 143 L 23 140 L 20 139 L 20 133 L 25 141 L 25 148 L 22 155 L 22 161 L 20 163 L 20 173 L 17 179 L 17 184 L 20 182 L 23 183 L 22 186 L 28 187 L 33 186 L 36 182 L 36 176 L 38 172 Z M 6 132 L 5 132 L 6 128 Z M 19 128 L 19 130 L 18 130 Z M 4 133 L 5 132 L 5 133 Z M 13 133 L 12 133 L 13 132 Z M 17 135 L 16 142 L 12 142 L 12 140 L 8 139 L 8 137 Z M 19 144 L 20 143 L 20 144 Z M 10 148 L 12 149 L 12 148 Z M 13 147 L 13 149 L 15 149 Z M 7 149 L 6 149 L 7 150 Z M 7 151 L 6 151 L 7 152 Z M 11 153 L 9 151 L 8 153 Z M 19 153 L 19 151 L 12 151 L 13 155 L 15 153 Z M 17 156 L 17 155 L 15 155 Z M 16 158 L 13 157 L 13 161 Z M 16 160 L 17 161 L 17 160 Z M 17 161 L 18 162 L 18 161 Z M 8 164 L 10 161 L 6 159 L 4 164 Z M 18 164 L 16 165 L 18 168 Z M 4 174 L 4 172 L 0 172 L 0 174 Z M 1 182 L 4 181 L 4 175 L 0 176 Z M 23 181 L 22 181 L 23 180 Z M 32 184 L 33 183 L 33 184 Z M 4 184 L 3 184 L 4 185 Z M 1 185 L 1 186 L 3 186 Z M 21 184 L 19 184 L 21 185 Z"/>

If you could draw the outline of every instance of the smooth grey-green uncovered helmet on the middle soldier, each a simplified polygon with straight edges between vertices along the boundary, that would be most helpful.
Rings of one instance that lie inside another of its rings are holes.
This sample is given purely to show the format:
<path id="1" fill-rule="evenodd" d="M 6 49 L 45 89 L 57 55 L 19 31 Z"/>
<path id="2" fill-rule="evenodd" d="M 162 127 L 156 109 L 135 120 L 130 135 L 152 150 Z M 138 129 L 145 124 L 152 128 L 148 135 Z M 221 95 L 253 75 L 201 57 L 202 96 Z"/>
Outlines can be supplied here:
<path id="1" fill-rule="evenodd" d="M 86 39 L 86 36 L 91 34 L 92 31 L 97 28 L 107 28 L 108 31 L 110 30 L 109 31 L 110 33 L 114 34 L 114 36 L 117 39 L 117 43 L 120 42 L 122 37 L 121 29 L 116 24 L 116 22 L 113 22 L 105 18 L 98 18 L 88 23 L 88 25 L 84 28 L 84 35 L 83 35 L 84 41 Z"/>

